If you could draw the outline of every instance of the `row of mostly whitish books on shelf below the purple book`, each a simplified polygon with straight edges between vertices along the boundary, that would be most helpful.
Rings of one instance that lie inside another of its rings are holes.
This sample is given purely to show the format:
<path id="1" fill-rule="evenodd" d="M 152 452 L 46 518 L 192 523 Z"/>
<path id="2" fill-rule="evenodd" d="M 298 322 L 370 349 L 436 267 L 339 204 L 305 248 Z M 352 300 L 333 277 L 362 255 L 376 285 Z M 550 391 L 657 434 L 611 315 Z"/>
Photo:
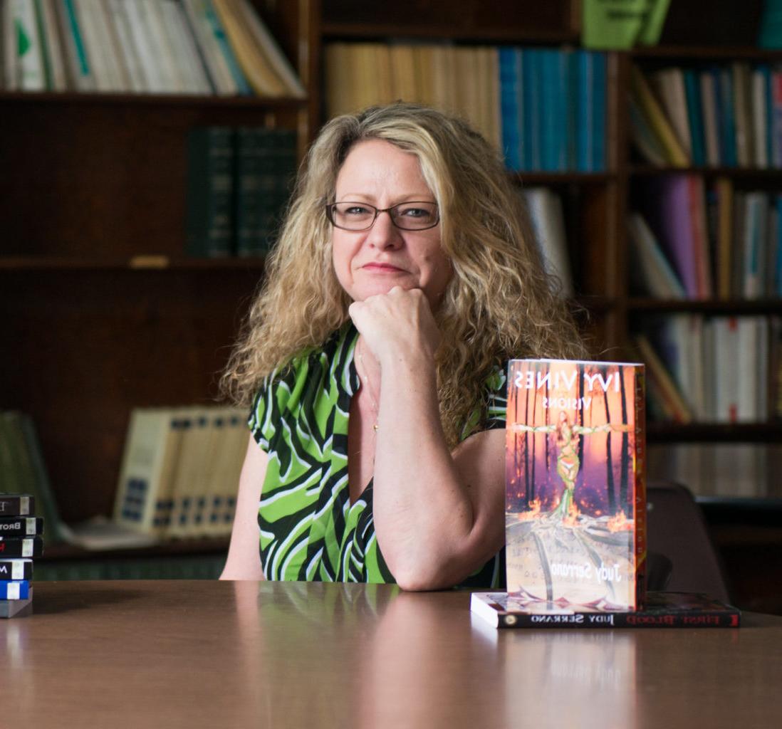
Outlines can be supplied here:
<path id="1" fill-rule="evenodd" d="M 777 316 L 672 314 L 635 343 L 647 366 L 652 418 L 676 423 L 765 423 L 782 414 Z"/>

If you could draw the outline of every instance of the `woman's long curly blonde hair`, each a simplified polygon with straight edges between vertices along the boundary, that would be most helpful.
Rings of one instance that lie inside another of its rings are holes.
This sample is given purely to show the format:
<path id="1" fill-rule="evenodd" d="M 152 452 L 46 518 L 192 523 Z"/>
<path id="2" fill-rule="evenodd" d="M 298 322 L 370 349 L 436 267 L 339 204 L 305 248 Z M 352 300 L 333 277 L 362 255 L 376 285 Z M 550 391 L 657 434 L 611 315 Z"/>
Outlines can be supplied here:
<path id="1" fill-rule="evenodd" d="M 264 377 L 323 345 L 349 319 L 325 205 L 348 152 L 368 139 L 416 155 L 439 206 L 454 276 L 436 312 L 443 333 L 436 367 L 443 430 L 454 446 L 473 413 L 485 420 L 484 385 L 494 368 L 514 357 L 582 357 L 584 348 L 497 152 L 461 119 L 420 105 L 338 116 L 318 134 L 221 389 L 249 405 Z"/>

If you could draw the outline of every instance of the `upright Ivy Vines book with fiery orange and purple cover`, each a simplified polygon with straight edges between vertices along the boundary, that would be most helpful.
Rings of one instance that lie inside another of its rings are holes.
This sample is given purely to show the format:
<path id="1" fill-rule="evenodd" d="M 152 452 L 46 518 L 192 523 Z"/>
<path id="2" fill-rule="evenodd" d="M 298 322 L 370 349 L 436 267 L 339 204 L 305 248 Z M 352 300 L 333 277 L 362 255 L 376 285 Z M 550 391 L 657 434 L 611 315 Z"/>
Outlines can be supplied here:
<path id="1" fill-rule="evenodd" d="M 646 557 L 644 368 L 508 364 L 508 592 L 636 610 Z"/>

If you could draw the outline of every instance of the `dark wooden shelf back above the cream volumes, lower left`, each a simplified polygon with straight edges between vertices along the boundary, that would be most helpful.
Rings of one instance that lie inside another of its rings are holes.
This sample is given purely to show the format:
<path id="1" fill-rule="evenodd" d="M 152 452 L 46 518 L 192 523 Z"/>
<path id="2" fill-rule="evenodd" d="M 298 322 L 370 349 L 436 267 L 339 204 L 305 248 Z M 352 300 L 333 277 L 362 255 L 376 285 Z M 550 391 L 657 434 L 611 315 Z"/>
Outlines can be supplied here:
<path id="1" fill-rule="evenodd" d="M 258 275 L 2 273 L 0 407 L 33 416 L 66 521 L 110 512 L 133 407 L 214 402 Z"/>

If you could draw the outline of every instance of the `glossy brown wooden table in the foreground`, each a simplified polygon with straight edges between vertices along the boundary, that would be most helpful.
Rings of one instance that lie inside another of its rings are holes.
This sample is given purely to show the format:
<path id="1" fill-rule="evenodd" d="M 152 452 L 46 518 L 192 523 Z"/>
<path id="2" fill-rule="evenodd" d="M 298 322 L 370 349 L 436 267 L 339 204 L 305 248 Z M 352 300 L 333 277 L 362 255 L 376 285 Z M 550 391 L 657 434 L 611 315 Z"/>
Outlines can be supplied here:
<path id="1" fill-rule="evenodd" d="M 465 593 L 39 582 L 0 621 L 0 727 L 777 727 L 782 618 L 496 631 Z"/>

